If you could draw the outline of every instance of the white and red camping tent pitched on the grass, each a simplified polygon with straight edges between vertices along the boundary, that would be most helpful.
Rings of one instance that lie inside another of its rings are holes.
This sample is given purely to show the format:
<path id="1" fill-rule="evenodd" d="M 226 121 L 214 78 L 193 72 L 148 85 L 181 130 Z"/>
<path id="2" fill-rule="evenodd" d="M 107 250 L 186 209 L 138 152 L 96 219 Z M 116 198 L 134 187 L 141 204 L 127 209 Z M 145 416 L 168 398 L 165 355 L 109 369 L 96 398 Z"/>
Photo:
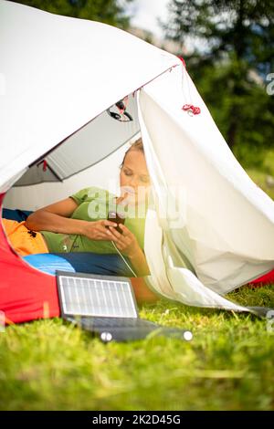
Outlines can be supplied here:
<path id="1" fill-rule="evenodd" d="M 184 60 L 118 28 L 5 0 L 0 58 L 1 206 L 115 189 L 121 154 L 142 135 L 153 184 L 145 281 L 187 305 L 249 311 L 224 295 L 273 280 L 274 203 L 229 150 Z M 132 120 L 113 120 L 125 97 Z M 2 225 L 0 310 L 13 322 L 59 314 L 56 277 L 16 255 Z"/>

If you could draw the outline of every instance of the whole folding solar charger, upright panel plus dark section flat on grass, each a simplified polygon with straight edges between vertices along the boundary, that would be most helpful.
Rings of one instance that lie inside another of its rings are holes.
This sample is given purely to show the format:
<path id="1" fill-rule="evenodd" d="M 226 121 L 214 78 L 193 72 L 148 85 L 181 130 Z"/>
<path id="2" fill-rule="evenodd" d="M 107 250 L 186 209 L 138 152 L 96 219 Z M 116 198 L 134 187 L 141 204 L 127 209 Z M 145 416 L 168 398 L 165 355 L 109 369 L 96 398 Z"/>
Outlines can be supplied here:
<path id="1" fill-rule="evenodd" d="M 193 338 L 190 330 L 141 319 L 130 278 L 57 271 L 57 280 L 61 317 L 103 342 L 162 335 L 186 341 Z"/>

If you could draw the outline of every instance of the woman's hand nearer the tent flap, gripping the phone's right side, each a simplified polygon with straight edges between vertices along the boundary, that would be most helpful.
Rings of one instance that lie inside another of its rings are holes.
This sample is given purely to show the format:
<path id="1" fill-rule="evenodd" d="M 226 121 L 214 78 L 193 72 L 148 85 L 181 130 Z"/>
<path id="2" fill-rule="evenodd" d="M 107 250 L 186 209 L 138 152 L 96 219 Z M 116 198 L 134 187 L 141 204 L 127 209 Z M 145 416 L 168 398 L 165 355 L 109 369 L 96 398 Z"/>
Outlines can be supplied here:
<path id="1" fill-rule="evenodd" d="M 119 233 L 116 228 L 110 226 L 111 234 L 114 235 L 114 242 L 121 253 L 129 258 L 132 258 L 138 251 L 142 251 L 137 238 L 132 231 L 129 230 L 125 225 L 119 224 L 122 234 Z"/>

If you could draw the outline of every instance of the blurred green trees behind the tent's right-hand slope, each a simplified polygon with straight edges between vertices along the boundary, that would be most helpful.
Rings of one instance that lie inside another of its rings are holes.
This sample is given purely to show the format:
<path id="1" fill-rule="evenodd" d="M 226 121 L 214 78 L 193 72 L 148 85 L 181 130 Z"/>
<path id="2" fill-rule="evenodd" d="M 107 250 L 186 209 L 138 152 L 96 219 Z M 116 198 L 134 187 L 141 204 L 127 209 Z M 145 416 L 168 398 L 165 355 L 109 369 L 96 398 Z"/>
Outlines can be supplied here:
<path id="1" fill-rule="evenodd" d="M 168 10 L 165 35 L 182 49 L 189 37 L 198 42 L 184 55 L 186 67 L 240 162 L 247 163 L 250 145 L 274 147 L 274 99 L 266 90 L 274 72 L 274 2 L 170 0 Z"/>

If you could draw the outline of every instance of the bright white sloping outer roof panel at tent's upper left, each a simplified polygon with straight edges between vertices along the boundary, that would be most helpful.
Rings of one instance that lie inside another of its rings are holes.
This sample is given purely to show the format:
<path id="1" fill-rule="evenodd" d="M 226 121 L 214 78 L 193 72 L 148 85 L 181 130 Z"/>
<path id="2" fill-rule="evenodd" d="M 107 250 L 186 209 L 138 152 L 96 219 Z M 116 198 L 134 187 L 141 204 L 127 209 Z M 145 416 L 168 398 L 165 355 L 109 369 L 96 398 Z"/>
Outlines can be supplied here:
<path id="1" fill-rule="evenodd" d="M 0 41 L 0 192 L 60 141 L 181 63 L 116 27 L 5 0 Z"/>

